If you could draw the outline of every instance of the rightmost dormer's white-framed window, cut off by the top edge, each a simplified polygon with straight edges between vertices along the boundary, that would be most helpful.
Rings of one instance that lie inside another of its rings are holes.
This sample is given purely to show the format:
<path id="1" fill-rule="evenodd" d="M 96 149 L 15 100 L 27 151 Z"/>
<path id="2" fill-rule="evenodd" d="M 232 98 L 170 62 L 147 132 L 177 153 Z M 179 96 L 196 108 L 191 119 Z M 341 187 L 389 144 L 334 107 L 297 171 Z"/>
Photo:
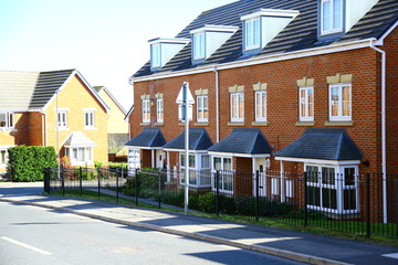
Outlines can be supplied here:
<path id="1" fill-rule="evenodd" d="M 343 31 L 343 1 L 321 0 L 321 34 Z"/>

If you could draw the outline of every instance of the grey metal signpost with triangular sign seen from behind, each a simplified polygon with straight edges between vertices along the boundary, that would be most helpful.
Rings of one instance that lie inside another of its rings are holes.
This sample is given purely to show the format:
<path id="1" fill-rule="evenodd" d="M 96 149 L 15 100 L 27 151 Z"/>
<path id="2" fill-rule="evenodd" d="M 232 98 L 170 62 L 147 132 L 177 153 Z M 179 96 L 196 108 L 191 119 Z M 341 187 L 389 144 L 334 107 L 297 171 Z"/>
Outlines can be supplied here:
<path id="1" fill-rule="evenodd" d="M 189 188 L 189 120 L 192 119 L 192 94 L 189 91 L 189 83 L 184 82 L 177 96 L 176 103 L 179 105 L 178 118 L 185 121 L 185 199 L 184 213 L 188 214 L 188 188 Z"/>

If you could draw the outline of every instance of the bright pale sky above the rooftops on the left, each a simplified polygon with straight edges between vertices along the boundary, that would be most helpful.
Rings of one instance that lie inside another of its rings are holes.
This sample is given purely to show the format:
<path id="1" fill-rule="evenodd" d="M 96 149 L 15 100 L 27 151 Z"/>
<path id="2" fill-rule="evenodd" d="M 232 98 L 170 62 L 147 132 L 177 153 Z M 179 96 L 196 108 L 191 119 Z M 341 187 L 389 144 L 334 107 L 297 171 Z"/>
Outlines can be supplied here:
<path id="1" fill-rule="evenodd" d="M 172 38 L 202 11 L 235 0 L 0 0 L 0 70 L 76 68 L 128 109 L 128 77 L 148 40 Z"/>

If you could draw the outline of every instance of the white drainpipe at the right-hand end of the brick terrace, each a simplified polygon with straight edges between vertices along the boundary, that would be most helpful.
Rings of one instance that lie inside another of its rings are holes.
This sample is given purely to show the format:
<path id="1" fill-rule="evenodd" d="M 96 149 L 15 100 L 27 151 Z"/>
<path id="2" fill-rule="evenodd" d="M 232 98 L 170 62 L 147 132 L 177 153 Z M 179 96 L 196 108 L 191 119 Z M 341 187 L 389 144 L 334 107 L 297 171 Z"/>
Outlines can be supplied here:
<path id="1" fill-rule="evenodd" d="M 370 47 L 381 54 L 381 171 L 383 171 L 383 221 L 387 223 L 387 156 L 386 156 L 386 52 L 375 47 L 370 41 Z"/>

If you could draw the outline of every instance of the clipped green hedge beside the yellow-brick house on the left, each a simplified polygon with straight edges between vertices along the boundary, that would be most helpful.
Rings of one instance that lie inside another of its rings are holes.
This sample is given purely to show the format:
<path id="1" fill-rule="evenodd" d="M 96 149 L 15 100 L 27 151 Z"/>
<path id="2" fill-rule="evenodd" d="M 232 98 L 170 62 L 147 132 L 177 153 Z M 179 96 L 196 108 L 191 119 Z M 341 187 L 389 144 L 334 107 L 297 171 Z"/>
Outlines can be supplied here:
<path id="1" fill-rule="evenodd" d="M 9 148 L 9 171 L 11 180 L 41 181 L 43 169 L 56 167 L 55 149 L 41 146 L 18 146 Z"/>

